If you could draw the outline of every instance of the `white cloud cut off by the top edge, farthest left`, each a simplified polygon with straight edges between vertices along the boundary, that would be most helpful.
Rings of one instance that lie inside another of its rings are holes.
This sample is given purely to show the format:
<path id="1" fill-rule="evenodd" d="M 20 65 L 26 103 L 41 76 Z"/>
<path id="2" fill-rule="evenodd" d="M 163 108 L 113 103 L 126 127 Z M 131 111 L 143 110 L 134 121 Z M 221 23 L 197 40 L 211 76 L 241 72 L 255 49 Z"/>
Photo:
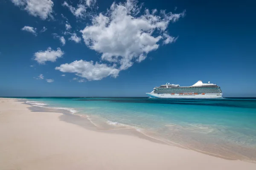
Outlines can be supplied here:
<path id="1" fill-rule="evenodd" d="M 32 16 L 40 17 L 42 20 L 52 17 L 52 0 L 12 0 L 12 3 L 26 10 Z"/>

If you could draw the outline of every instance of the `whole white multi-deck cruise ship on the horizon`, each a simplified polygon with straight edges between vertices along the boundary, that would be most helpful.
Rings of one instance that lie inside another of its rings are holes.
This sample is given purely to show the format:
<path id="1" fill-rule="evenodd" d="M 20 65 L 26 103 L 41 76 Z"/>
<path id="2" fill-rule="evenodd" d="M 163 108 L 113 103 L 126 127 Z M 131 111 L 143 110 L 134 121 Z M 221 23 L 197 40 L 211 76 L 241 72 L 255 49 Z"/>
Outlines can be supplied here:
<path id="1" fill-rule="evenodd" d="M 185 87 L 166 83 L 146 94 L 150 98 L 222 98 L 222 91 L 218 85 L 203 83 L 201 80 Z"/>

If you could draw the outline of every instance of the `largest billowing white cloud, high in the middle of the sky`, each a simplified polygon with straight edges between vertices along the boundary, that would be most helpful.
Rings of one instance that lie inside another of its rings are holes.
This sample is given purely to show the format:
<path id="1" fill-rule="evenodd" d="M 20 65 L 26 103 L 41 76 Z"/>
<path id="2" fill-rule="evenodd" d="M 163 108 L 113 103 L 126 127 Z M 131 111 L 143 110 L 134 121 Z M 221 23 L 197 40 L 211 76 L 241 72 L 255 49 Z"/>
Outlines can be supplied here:
<path id="1" fill-rule="evenodd" d="M 160 40 L 174 42 L 166 29 L 170 22 L 183 17 L 185 11 L 180 14 L 160 11 L 157 15 L 156 9 L 152 12 L 145 9 L 142 14 L 141 8 L 136 0 L 113 3 L 107 14 L 94 16 L 92 24 L 81 30 L 85 44 L 101 53 L 102 61 L 116 63 L 119 70 L 125 70 L 157 50 Z"/>

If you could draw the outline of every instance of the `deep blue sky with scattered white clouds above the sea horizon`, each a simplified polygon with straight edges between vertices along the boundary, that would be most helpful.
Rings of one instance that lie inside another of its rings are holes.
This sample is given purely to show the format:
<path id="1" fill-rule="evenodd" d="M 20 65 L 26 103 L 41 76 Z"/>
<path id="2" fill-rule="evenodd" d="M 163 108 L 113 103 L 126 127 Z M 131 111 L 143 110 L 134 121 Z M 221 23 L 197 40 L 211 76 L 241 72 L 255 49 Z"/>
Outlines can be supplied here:
<path id="1" fill-rule="evenodd" d="M 1 1 L 0 96 L 146 96 L 166 82 L 202 80 L 224 97 L 256 97 L 255 6 Z"/>

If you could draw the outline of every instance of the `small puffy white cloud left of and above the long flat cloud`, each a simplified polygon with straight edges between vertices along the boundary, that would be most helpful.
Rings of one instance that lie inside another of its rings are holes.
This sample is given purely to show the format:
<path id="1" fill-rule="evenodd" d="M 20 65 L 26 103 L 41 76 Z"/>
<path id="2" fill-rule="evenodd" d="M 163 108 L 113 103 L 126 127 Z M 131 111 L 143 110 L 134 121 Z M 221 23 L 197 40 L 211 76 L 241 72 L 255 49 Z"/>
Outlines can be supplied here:
<path id="1" fill-rule="evenodd" d="M 45 64 L 45 62 L 55 62 L 56 59 L 60 58 L 64 54 L 64 51 L 61 51 L 61 48 L 57 48 L 56 51 L 48 47 L 46 51 L 38 51 L 34 54 L 35 60 L 39 64 Z"/>

